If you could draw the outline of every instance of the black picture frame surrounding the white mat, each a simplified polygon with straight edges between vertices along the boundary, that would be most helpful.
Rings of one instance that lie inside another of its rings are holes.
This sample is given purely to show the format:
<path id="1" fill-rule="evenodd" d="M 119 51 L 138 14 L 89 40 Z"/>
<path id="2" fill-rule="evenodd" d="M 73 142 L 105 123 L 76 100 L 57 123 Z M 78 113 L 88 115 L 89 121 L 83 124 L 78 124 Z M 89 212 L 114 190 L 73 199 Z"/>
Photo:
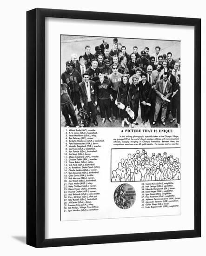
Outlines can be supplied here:
<path id="1" fill-rule="evenodd" d="M 194 27 L 194 229 L 45 239 L 45 18 Z M 27 244 L 53 247 L 201 236 L 201 19 L 36 8 L 27 12 Z"/>

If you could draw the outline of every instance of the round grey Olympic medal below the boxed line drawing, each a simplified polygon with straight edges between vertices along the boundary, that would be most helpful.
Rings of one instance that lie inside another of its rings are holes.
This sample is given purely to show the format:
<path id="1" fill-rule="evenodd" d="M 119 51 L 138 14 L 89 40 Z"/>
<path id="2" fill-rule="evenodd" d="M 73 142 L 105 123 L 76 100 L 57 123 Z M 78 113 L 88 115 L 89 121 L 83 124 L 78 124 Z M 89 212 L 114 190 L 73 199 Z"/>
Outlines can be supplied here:
<path id="1" fill-rule="evenodd" d="M 114 191 L 114 202 L 121 209 L 128 209 L 132 207 L 135 199 L 136 192 L 130 184 L 121 184 Z"/>

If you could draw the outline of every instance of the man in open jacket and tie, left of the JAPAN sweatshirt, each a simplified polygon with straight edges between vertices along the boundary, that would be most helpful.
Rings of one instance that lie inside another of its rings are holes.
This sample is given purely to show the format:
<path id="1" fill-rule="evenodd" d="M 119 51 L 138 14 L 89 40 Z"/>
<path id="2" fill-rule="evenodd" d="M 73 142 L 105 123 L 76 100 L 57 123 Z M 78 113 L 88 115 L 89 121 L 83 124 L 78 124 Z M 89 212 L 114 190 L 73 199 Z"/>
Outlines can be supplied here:
<path id="1" fill-rule="evenodd" d="M 79 84 L 80 86 L 80 102 L 81 107 L 85 108 L 87 115 L 90 121 L 90 112 L 92 112 L 92 119 L 95 126 L 98 125 L 97 122 L 97 98 L 95 98 L 94 94 L 94 84 L 95 82 L 89 80 L 89 74 L 83 74 L 83 81 Z"/>

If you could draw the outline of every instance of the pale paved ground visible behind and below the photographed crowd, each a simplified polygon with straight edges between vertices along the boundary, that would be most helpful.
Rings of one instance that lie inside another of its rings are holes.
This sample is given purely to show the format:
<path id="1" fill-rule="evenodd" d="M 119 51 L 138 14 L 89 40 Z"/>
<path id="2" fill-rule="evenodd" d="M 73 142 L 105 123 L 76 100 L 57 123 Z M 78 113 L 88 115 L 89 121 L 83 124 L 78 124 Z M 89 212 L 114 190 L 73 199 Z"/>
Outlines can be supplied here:
<path id="1" fill-rule="evenodd" d="M 78 56 L 83 55 L 85 53 L 85 46 L 90 45 L 91 47 L 91 53 L 94 53 L 94 47 L 98 46 L 102 43 L 101 37 L 85 37 L 85 36 L 62 36 L 61 40 L 61 73 L 65 71 L 65 63 L 66 61 L 71 59 L 71 54 L 77 54 Z M 113 38 L 106 38 L 107 43 L 109 43 L 109 48 L 111 48 L 113 43 Z M 167 52 L 173 53 L 173 59 L 177 59 L 180 57 L 180 42 L 179 41 L 168 41 L 168 40 L 146 40 L 146 39 L 126 39 L 126 38 L 119 38 L 119 42 L 122 43 L 122 45 L 126 46 L 126 52 L 128 54 L 131 54 L 133 51 L 133 46 L 138 47 L 138 52 L 140 53 L 141 50 L 144 49 L 144 47 L 149 47 L 150 52 L 149 54 L 153 54 L 155 51 L 155 46 L 161 47 L 161 54 L 166 54 Z M 80 116 L 78 116 L 78 120 L 80 120 Z M 172 124 L 170 123 L 171 116 L 169 115 L 168 120 L 166 120 L 166 126 L 165 127 L 176 127 L 176 121 Z M 113 123 L 110 123 L 108 120 L 106 120 L 105 124 L 101 124 L 101 118 L 100 115 L 97 116 L 97 121 L 99 123 L 98 127 L 121 127 L 121 120 L 116 120 Z M 141 117 L 140 117 L 140 107 L 139 107 L 139 115 L 137 119 L 139 125 L 135 127 L 141 127 Z M 148 122 L 147 127 L 164 127 L 160 121 L 157 121 L 155 126 L 152 124 L 153 118 L 151 118 Z M 61 115 L 61 126 L 65 126 L 65 118 L 63 115 Z M 91 127 L 94 125 L 91 124 Z M 125 127 L 127 125 L 125 124 Z"/>

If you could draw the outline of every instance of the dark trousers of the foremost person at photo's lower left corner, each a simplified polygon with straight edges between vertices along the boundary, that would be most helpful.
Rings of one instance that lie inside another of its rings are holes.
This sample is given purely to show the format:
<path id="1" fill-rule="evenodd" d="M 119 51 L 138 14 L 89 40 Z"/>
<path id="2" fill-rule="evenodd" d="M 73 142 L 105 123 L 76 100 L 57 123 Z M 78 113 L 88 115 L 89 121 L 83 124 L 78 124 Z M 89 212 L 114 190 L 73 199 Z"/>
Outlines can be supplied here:
<path id="1" fill-rule="evenodd" d="M 62 112 L 62 115 L 65 117 L 67 126 L 71 126 L 69 115 L 72 119 L 73 125 L 74 126 L 78 125 L 77 117 L 71 101 L 68 101 L 66 104 L 61 103 L 61 112 Z"/>

